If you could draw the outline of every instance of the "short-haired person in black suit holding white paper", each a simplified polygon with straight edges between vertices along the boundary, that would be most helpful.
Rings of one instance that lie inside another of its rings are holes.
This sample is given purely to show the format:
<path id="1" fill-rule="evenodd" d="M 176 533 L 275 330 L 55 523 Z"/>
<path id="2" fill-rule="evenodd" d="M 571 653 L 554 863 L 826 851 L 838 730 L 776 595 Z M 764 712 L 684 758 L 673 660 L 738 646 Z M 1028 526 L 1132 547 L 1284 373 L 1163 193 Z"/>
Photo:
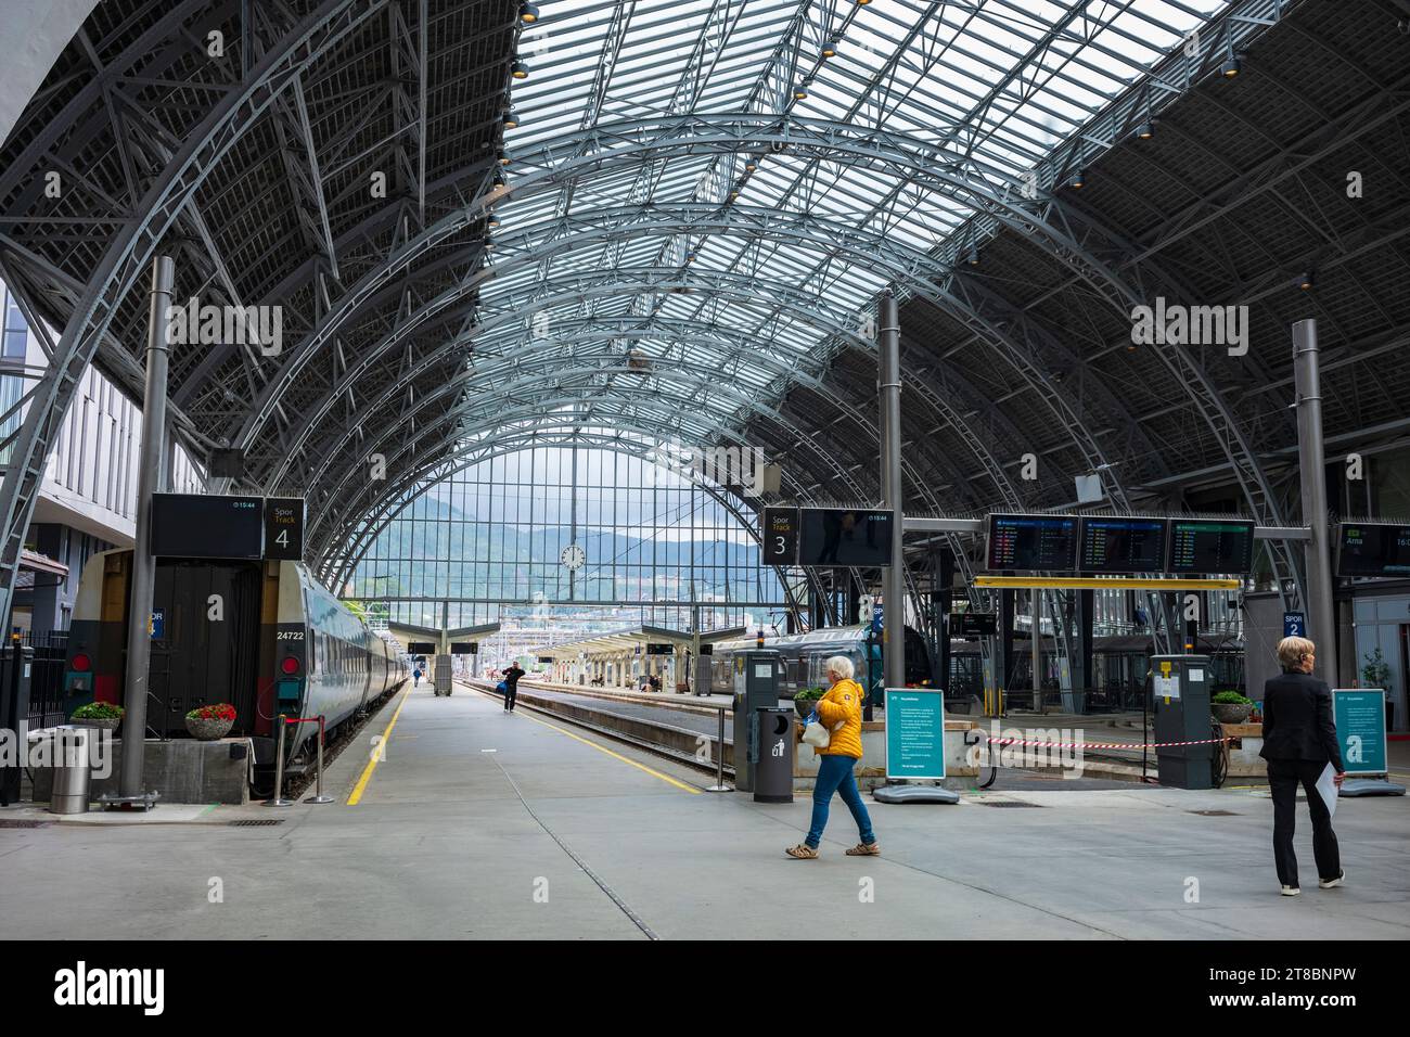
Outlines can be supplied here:
<path id="1" fill-rule="evenodd" d="M 1273 793 L 1273 863 L 1283 896 L 1297 896 L 1297 855 L 1293 852 L 1293 825 L 1297 820 L 1297 784 L 1307 792 L 1307 813 L 1313 815 L 1313 858 L 1317 885 L 1331 889 L 1342 885 L 1337 832 L 1331 830 L 1331 811 L 1317 789 L 1317 779 L 1331 765 L 1332 782 L 1341 787 L 1347 776 L 1337 742 L 1337 724 L 1331 712 L 1331 689 L 1313 674 L 1317 646 L 1307 638 L 1283 638 L 1277 642 L 1279 677 L 1263 684 L 1263 749 L 1268 760 L 1268 786 Z"/>

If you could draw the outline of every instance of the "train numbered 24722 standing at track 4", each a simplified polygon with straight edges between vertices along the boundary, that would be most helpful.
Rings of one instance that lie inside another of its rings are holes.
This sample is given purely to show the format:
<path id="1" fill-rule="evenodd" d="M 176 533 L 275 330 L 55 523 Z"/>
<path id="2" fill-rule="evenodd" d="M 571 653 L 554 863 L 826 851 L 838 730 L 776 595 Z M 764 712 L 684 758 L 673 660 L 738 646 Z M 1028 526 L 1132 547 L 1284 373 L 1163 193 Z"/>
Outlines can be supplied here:
<path id="1" fill-rule="evenodd" d="M 83 567 L 63 674 L 65 711 L 123 704 L 131 550 Z M 272 787 L 275 718 L 323 717 L 331 736 L 410 676 L 398 646 L 372 633 L 298 562 L 158 559 L 152 594 L 148 736 L 186 738 L 186 712 L 228 703 L 231 735 L 255 746 L 255 784 Z M 285 765 L 312 758 L 313 724 L 289 725 Z"/>

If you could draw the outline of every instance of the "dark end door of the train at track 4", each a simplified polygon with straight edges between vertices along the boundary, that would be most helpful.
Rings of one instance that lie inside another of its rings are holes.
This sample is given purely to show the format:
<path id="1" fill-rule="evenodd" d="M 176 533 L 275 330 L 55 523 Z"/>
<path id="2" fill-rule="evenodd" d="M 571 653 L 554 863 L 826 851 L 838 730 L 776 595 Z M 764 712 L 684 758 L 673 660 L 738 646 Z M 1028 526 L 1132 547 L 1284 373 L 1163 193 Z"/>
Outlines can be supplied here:
<path id="1" fill-rule="evenodd" d="M 254 734 L 262 570 L 257 562 L 158 559 L 147 724 L 183 735 L 186 712 L 230 703 L 230 734 Z"/>

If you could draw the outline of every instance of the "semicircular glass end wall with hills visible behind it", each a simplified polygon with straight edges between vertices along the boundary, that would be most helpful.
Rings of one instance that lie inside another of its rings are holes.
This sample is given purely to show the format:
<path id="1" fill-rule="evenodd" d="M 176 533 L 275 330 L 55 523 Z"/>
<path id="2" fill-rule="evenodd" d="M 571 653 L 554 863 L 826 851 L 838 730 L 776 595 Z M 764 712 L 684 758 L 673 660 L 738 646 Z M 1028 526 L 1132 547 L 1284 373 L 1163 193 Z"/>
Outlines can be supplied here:
<path id="1" fill-rule="evenodd" d="M 564 564 L 568 547 L 581 550 L 578 567 Z M 743 622 L 742 605 L 767 612 L 784 601 L 749 529 L 685 473 L 567 446 L 494 457 L 436 484 L 389 523 L 344 591 L 423 626 L 439 626 L 436 602 L 450 600 L 451 628 L 517 604 L 563 621 L 591 614 L 599 629 L 603 612 L 685 629 L 685 602 L 709 602 L 709 629 Z"/>

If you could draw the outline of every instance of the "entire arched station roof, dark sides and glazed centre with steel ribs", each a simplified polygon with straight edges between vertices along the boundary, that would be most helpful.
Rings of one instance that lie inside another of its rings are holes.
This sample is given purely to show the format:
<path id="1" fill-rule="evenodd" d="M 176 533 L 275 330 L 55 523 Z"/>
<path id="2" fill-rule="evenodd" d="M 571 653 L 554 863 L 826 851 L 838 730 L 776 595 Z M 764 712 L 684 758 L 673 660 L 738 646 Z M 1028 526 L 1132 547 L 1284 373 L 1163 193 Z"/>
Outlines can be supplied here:
<path id="1" fill-rule="evenodd" d="M 171 399 L 213 470 L 307 495 L 330 581 L 530 444 L 759 446 L 783 498 L 876 499 L 884 291 L 909 512 L 1097 474 L 1285 525 L 1293 320 L 1330 449 L 1410 425 L 1403 8 L 107 0 L 0 151 L 0 277 L 58 332 L 3 564 L 76 372 L 140 389 L 157 254 L 179 299 L 281 308 L 175 347 Z M 1248 306 L 1248 350 L 1134 344 L 1158 298 Z"/>

